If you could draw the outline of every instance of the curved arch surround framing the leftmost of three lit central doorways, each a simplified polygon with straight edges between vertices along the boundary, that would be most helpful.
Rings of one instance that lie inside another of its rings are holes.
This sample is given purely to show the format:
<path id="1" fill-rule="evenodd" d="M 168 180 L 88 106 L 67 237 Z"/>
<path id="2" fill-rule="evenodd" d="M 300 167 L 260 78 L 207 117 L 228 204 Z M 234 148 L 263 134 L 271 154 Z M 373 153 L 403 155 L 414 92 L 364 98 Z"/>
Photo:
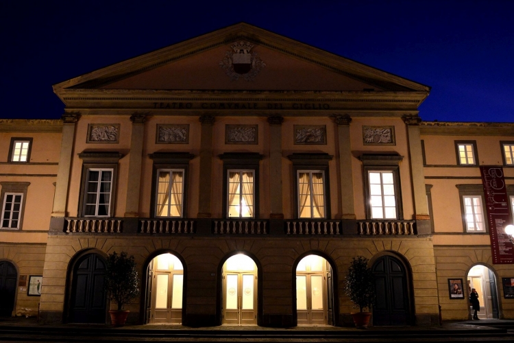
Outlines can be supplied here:
<path id="1" fill-rule="evenodd" d="M 150 253 L 150 255 L 147 256 L 147 258 L 145 259 L 145 262 L 143 262 L 143 265 L 141 265 L 141 269 L 140 269 L 140 275 L 141 275 L 141 287 L 140 287 L 140 299 L 139 299 L 139 324 L 145 324 L 147 322 L 147 314 L 146 314 L 146 309 L 147 309 L 147 303 L 146 303 L 146 300 L 147 300 L 147 297 L 146 297 L 146 294 L 147 294 L 147 287 L 148 287 L 148 279 L 147 279 L 147 275 L 148 275 L 148 268 L 149 268 L 149 265 L 151 263 L 151 261 L 153 259 L 155 259 L 156 257 L 158 257 L 159 255 L 162 255 L 162 254 L 171 254 L 175 257 L 177 257 L 180 261 L 180 263 L 182 263 L 182 268 L 184 268 L 184 279 L 183 279 L 183 284 L 182 284 L 182 325 L 185 325 L 185 320 L 186 320 L 186 293 L 187 293 L 187 263 L 186 263 L 186 260 L 184 259 L 184 257 L 182 257 L 182 255 L 180 255 L 177 251 L 173 250 L 173 249 L 158 249 L 158 250 L 155 250 L 153 252 Z"/>

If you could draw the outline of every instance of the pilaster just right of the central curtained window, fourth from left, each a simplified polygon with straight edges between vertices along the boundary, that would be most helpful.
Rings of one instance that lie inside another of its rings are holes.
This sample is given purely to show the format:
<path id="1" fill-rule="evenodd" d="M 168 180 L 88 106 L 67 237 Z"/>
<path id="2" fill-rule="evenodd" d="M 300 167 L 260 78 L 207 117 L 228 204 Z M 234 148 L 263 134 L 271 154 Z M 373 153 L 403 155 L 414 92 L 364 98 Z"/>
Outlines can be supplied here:
<path id="1" fill-rule="evenodd" d="M 268 117 L 269 123 L 269 194 L 271 219 L 284 219 L 282 209 L 282 123 L 284 117 Z"/>

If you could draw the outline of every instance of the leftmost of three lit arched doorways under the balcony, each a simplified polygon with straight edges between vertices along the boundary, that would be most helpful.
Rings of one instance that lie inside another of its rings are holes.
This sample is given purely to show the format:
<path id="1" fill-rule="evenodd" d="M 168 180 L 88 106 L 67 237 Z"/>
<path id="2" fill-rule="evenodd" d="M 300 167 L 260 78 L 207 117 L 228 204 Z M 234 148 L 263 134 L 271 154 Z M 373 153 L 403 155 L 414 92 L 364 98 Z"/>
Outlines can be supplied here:
<path id="1" fill-rule="evenodd" d="M 147 309 L 150 324 L 182 324 L 184 265 L 170 253 L 154 257 L 148 265 Z"/>

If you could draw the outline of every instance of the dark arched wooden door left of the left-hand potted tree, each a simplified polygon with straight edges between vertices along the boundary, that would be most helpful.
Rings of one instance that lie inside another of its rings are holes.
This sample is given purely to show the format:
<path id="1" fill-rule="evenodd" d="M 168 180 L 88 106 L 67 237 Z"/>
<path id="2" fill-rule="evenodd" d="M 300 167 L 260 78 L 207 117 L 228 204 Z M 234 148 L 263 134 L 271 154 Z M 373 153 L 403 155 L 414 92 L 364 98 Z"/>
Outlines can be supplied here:
<path id="1" fill-rule="evenodd" d="M 106 262 L 99 255 L 88 254 L 77 261 L 73 270 L 70 322 L 106 322 L 105 277 Z"/>

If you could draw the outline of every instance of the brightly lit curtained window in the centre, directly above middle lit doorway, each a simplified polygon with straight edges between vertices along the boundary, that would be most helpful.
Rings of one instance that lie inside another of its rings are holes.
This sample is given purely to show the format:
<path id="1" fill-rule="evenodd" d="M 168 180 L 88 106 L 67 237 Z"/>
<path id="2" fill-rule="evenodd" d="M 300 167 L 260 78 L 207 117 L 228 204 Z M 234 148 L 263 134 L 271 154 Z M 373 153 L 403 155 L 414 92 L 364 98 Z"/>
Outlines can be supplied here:
<path id="1" fill-rule="evenodd" d="M 254 217 L 254 170 L 228 171 L 228 217 Z"/>

